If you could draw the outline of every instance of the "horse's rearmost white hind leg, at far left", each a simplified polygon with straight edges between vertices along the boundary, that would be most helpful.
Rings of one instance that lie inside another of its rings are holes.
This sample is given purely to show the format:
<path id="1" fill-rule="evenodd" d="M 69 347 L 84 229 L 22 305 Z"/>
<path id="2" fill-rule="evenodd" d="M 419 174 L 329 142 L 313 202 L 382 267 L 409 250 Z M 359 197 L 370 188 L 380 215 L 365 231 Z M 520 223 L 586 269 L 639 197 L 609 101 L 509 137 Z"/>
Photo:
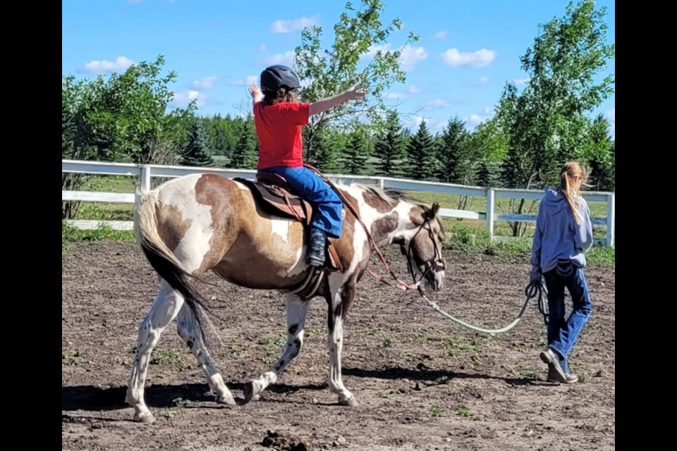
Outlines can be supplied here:
<path id="1" fill-rule="evenodd" d="M 161 280 L 157 298 L 146 317 L 139 324 L 136 355 L 126 396 L 126 402 L 134 408 L 134 421 L 144 423 L 155 421 L 143 397 L 150 354 L 157 345 L 162 331 L 176 318 L 182 306 L 183 296 L 174 291 L 164 280 Z"/>

